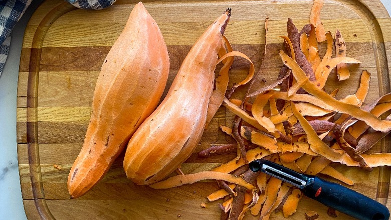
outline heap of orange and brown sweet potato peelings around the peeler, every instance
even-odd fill
[[[370,73],[365,70],[354,94],[335,99],[338,89],[329,93],[324,89],[334,68],[337,69],[338,79],[345,80],[350,76],[349,65],[360,62],[346,57],[343,33],[337,30],[334,39],[331,32],[323,29],[320,22],[322,6],[322,1],[314,3],[311,24],[305,25],[300,32],[288,19],[288,36],[282,37],[285,50],[279,52],[283,67],[276,82],[263,88],[252,88],[262,65],[255,74],[251,63],[247,78],[227,90],[227,66],[233,62],[229,58],[245,55],[233,51],[225,39],[227,50],[219,54],[219,61],[225,65],[222,68],[225,74],[221,74],[220,70],[214,92],[220,94],[215,96],[216,100],[220,99],[236,115],[232,128],[220,128],[232,136],[237,144],[212,146],[199,152],[199,157],[233,152],[237,152],[237,157],[212,171],[174,176],[152,184],[152,188],[217,179],[222,189],[209,195],[208,199],[222,199],[219,203],[221,219],[242,219],[248,211],[252,215],[259,215],[259,219],[269,219],[273,211],[282,211],[284,217],[295,213],[303,194],[274,177],[253,173],[248,169],[248,162],[269,159],[297,172],[328,175],[348,185],[353,185],[353,181],[330,166],[332,162],[362,167],[368,171],[372,167],[391,165],[390,154],[365,154],[391,131],[389,116],[384,117],[391,109],[391,94],[363,105],[370,81]],[[268,18],[265,29],[267,38]],[[318,43],[323,41],[327,42],[327,48],[325,55],[320,57]],[[231,98],[235,89],[243,84],[250,84],[243,99]],[[253,92],[250,93],[251,89]],[[216,103],[216,106],[220,106],[219,101]]]

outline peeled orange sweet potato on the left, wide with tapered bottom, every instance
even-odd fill
[[[84,144],[68,176],[71,197],[86,193],[109,170],[158,104],[168,71],[163,36],[139,3],[99,73]]]

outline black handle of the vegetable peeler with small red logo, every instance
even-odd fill
[[[389,210],[379,202],[345,186],[309,176],[303,193],[322,204],[360,220],[386,220]]]

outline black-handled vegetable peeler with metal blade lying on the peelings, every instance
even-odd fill
[[[304,195],[322,204],[364,220],[389,219],[389,210],[379,202],[337,183],[313,175],[305,175],[268,160],[255,160],[249,164],[253,172],[262,171],[299,188]]]

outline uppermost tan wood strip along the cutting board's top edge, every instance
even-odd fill
[[[235,21],[254,21],[261,20],[262,17],[259,12],[267,14],[269,18],[281,17],[281,12],[284,12],[284,16],[294,17],[300,20],[309,20],[309,14],[311,12],[312,2],[278,2],[270,4],[271,1],[247,1],[236,2],[227,1],[224,4],[221,2],[207,3],[144,3],[148,13],[153,19],[160,24],[162,22],[211,22],[225,12],[227,7],[232,8],[232,19]],[[293,3],[293,4],[292,4]],[[76,10],[70,12],[58,21],[58,24],[67,24],[68,19],[73,19],[75,25],[80,24],[101,24],[101,23],[125,23],[129,17],[133,4],[126,5],[114,5],[101,11],[83,11]],[[301,13],[296,13],[292,10],[286,10],[294,7]],[[202,13],[200,13],[202,11]],[[164,12],[164,13],[162,13]],[[88,14],[89,19],[85,19],[85,15]],[[115,14],[115,16],[113,16]],[[168,16],[167,16],[168,15]],[[360,19],[352,10],[345,6],[341,6],[333,3],[326,3],[322,9],[321,18],[333,18],[338,17],[340,19]],[[107,18],[102,20],[101,18]],[[32,24],[33,25],[33,24]],[[37,24],[38,25],[38,24]]]

